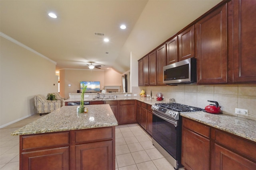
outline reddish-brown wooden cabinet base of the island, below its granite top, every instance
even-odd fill
[[[115,170],[115,127],[20,135],[20,170],[87,169]]]

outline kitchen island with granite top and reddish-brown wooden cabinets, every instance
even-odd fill
[[[116,118],[107,104],[64,106],[14,131],[20,135],[20,170],[115,169]]]

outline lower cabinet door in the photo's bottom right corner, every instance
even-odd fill
[[[214,170],[255,170],[256,163],[231,152],[219,145],[214,145]]]

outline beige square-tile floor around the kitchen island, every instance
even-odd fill
[[[0,129],[0,170],[19,169],[19,137],[10,134],[38,118],[39,115],[33,115]],[[116,170],[174,170],[151,140],[138,124],[118,125]]]

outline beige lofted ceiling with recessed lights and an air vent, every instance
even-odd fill
[[[101,65],[101,70],[112,68],[124,73],[130,70],[131,51],[138,59],[143,57],[218,2],[1,0],[0,31],[55,61],[56,70],[88,69],[92,62]],[[50,18],[49,12],[57,18]],[[170,22],[166,18],[162,21],[162,15]],[[159,26],[162,23],[166,25]],[[126,29],[120,29],[122,24]]]

